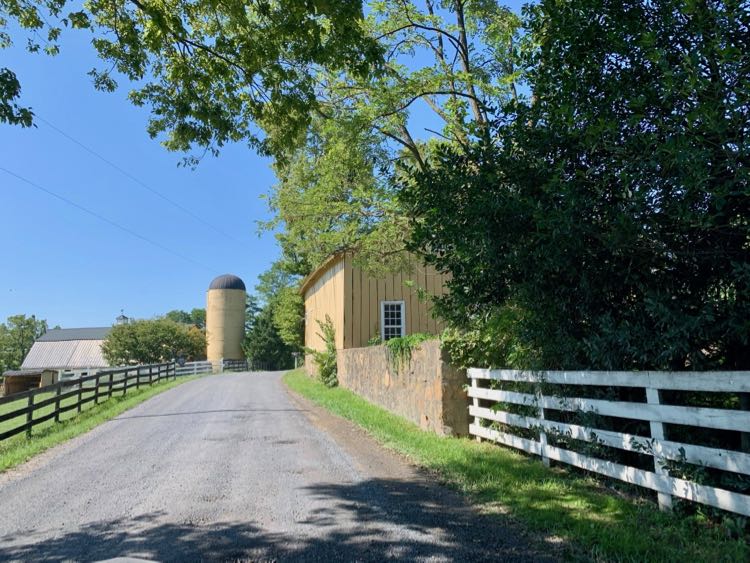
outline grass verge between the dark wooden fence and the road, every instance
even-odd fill
[[[31,438],[19,435],[3,440],[0,442],[0,472],[28,461],[52,446],[88,432],[95,426],[116,417],[154,395],[197,379],[197,377],[181,377],[176,381],[159,383],[153,387],[134,390],[132,393],[128,391],[128,394],[124,397],[112,397],[99,405],[89,403],[84,406],[84,411],[81,414],[75,414],[59,424],[51,421],[49,425],[45,425],[41,429],[35,427]]]

